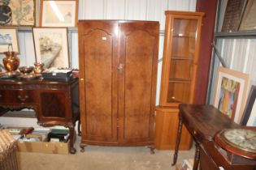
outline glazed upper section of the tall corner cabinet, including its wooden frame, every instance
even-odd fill
[[[202,15],[166,13],[160,105],[192,103]]]

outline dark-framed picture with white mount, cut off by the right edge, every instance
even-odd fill
[[[241,125],[256,126],[256,86],[252,86],[245,105],[245,112]]]

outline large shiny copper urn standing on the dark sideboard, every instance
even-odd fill
[[[7,72],[15,71],[20,66],[20,59],[16,52],[4,52],[6,57],[2,58],[2,63]]]

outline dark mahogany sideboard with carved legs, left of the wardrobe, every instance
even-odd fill
[[[0,107],[6,110],[32,108],[39,125],[67,127],[70,131],[69,151],[76,153],[73,145],[76,140],[75,123],[80,116],[78,79],[68,82],[1,79]]]

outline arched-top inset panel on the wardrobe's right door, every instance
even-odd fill
[[[153,49],[154,37],[147,32],[132,32],[126,37],[124,138],[150,137]]]

